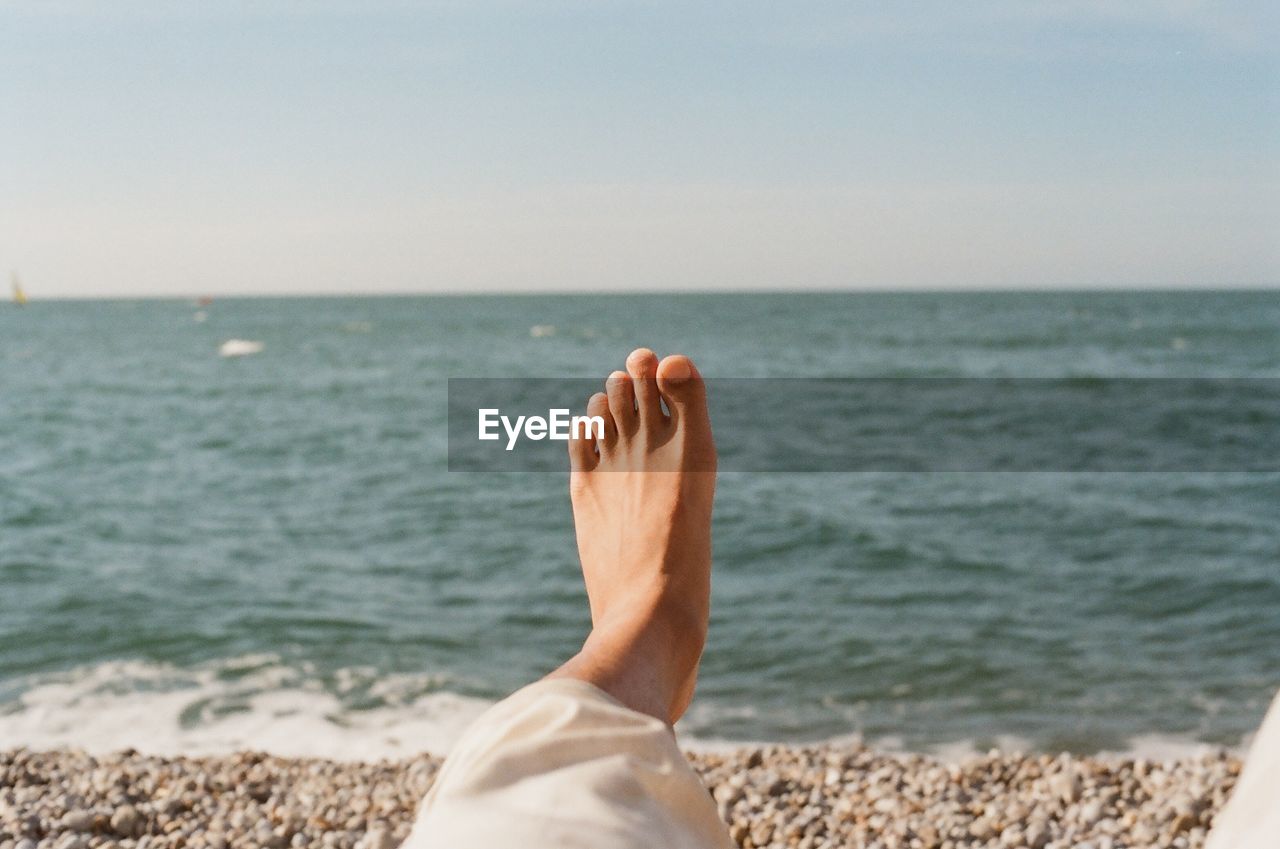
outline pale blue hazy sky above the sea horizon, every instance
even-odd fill
[[[32,297],[1280,286],[1271,3],[0,0]]]

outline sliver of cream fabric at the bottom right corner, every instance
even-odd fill
[[[1204,849],[1280,849],[1280,693],[1253,738],[1244,772],[1213,821]]]

